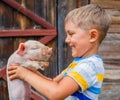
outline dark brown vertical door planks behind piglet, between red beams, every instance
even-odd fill
[[[28,16],[25,16],[24,14],[20,13],[19,9],[16,10],[15,8],[5,3],[5,1],[0,0],[0,32],[5,30],[35,30],[35,28],[47,30],[47,28],[43,27],[42,24],[38,24],[34,20],[30,19]],[[43,18],[43,20],[47,21],[56,28],[55,0],[15,1],[19,3],[23,8],[32,11],[34,14],[40,16],[41,18]],[[0,37],[0,70],[4,66],[6,66],[7,59],[18,48],[20,42],[24,42],[29,39],[39,40],[43,37],[44,36]],[[43,74],[49,77],[54,77],[58,74],[56,43],[56,39],[53,39],[48,44],[46,44],[52,47],[54,52],[51,58],[50,67],[46,69],[46,71],[42,72]],[[2,74],[0,73],[0,76],[1,75]],[[2,78],[0,78],[0,100],[8,100],[7,83]]]

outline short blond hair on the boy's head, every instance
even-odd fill
[[[65,23],[69,21],[85,31],[96,29],[101,43],[111,24],[111,17],[100,6],[89,4],[70,11],[65,18]]]

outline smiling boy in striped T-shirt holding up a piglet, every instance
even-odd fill
[[[109,25],[110,16],[98,5],[72,10],[65,18],[65,41],[72,49],[73,62],[54,79],[11,65],[10,79],[28,82],[50,100],[97,100],[104,78],[98,48]]]

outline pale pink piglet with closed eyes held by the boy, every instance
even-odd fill
[[[19,64],[23,67],[34,67],[36,70],[44,70],[48,66],[52,55],[52,48],[35,41],[28,40],[20,43],[19,48],[10,56],[7,63],[7,69],[10,64]],[[8,70],[7,70],[8,73]],[[34,81],[34,79],[33,79]],[[27,92],[29,85],[20,80],[10,81],[7,74],[9,100],[30,100],[30,93]]]

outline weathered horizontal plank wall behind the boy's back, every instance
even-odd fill
[[[112,17],[112,24],[103,41],[100,54],[105,63],[105,80],[101,100],[120,99],[120,0],[91,0],[106,9]]]

